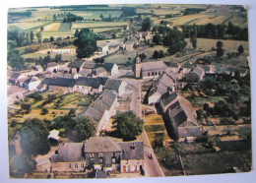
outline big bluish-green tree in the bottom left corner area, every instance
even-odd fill
[[[27,119],[19,130],[23,153],[37,155],[49,152],[48,135],[49,131],[41,120]]]

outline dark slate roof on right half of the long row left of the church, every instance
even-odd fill
[[[92,87],[94,89],[98,89],[100,85],[105,85],[107,78],[97,77],[97,78],[87,78],[87,77],[79,77],[76,80],[76,86],[86,86]]]

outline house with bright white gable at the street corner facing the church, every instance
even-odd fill
[[[116,93],[122,96],[126,92],[127,84],[122,80],[109,79],[105,83],[104,90]]]

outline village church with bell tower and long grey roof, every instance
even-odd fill
[[[134,67],[134,75],[137,79],[158,78],[160,75],[165,73],[167,68],[168,67],[166,64],[160,60],[144,59],[142,62],[141,59],[137,56]]]

